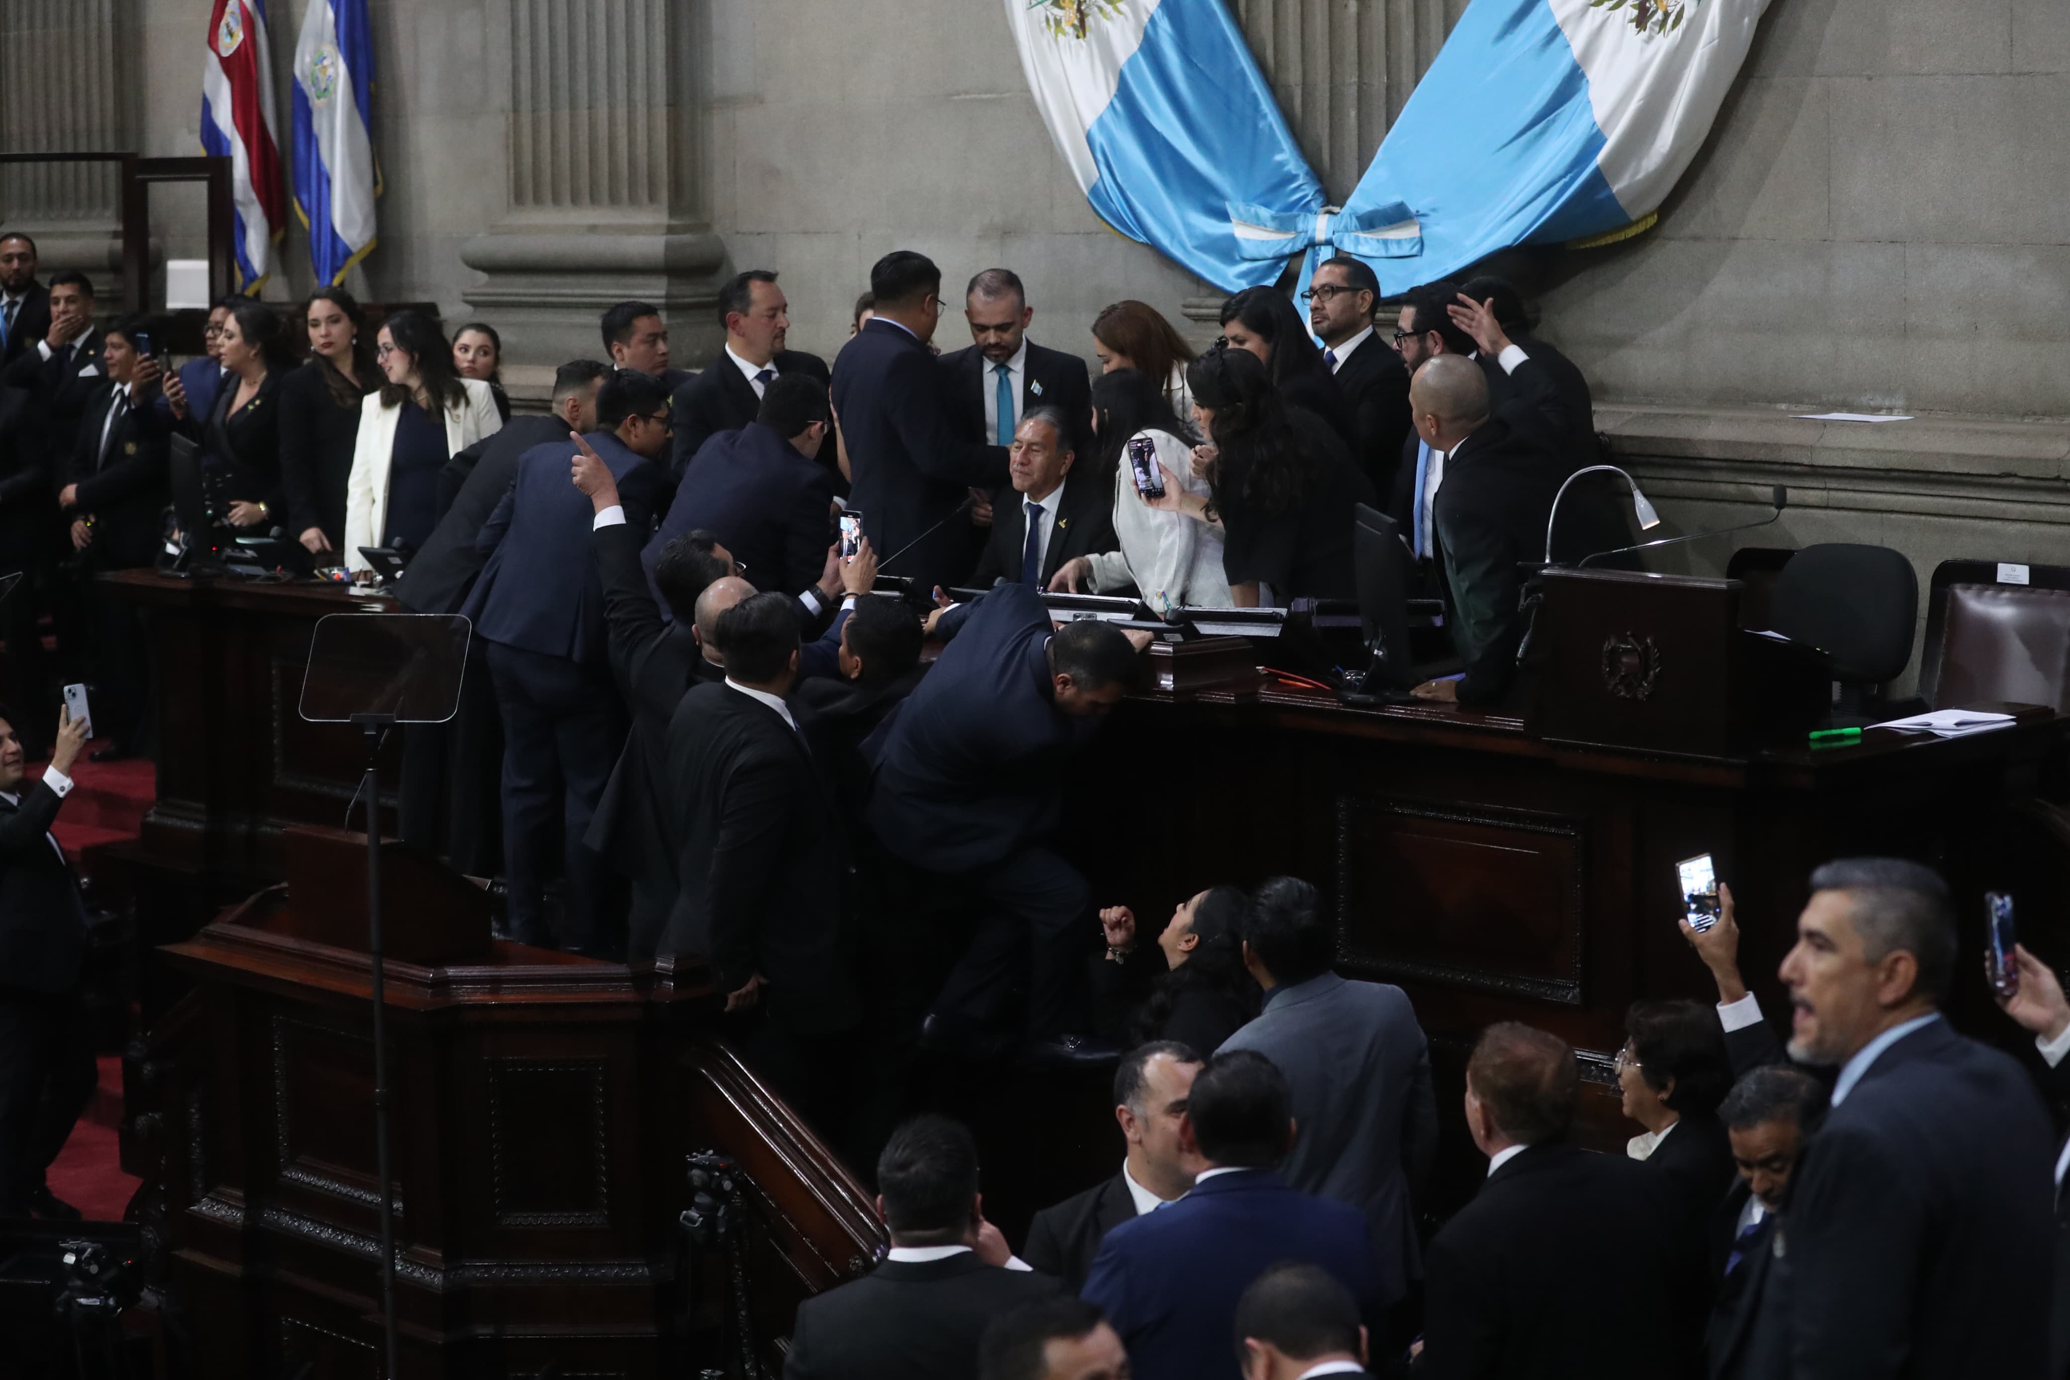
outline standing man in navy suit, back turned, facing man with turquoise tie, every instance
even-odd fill
[[[971,569],[971,490],[1006,482],[1006,447],[989,443],[996,434],[969,434],[927,350],[942,321],[942,271],[925,254],[894,250],[869,269],[869,290],[876,314],[840,348],[834,370],[849,497],[886,575],[948,588]]]

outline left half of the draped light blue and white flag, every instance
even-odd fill
[[[1314,217],[1323,186],[1223,0],[1004,0],[1021,68],[1099,219],[1223,288],[1279,277],[1232,205]]]

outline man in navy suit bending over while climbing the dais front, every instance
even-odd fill
[[[1021,583],[950,608],[936,629],[952,641],[863,743],[878,842],[983,908],[921,1039],[969,1049],[1025,974],[1029,1057],[1103,1063],[1114,1051],[1076,1034],[1072,1010],[1087,881],[1045,836],[1076,751],[1136,672],[1136,646],[1107,623],[1052,629],[1041,594]]]

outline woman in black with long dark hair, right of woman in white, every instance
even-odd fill
[[[1223,530],[1221,571],[1238,608],[1356,598],[1352,507],[1372,503],[1372,484],[1350,449],[1323,418],[1288,410],[1246,350],[1209,350],[1186,383],[1207,437],[1194,474],[1207,478],[1209,494],[1167,472],[1165,497],[1151,507]]]

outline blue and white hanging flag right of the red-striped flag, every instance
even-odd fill
[[[294,209],[319,283],[342,283],[375,246],[373,79],[366,0],[308,0],[294,48]]]

